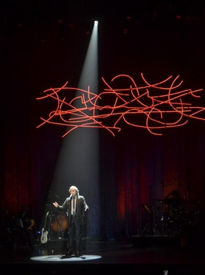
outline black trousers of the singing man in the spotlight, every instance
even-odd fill
[[[68,250],[80,250],[82,240],[82,225],[75,217],[71,217],[71,223],[68,228]]]

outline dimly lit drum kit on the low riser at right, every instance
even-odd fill
[[[153,210],[147,210],[147,224],[142,233],[156,235],[179,235],[200,222],[198,201],[184,201],[175,198],[153,199]]]

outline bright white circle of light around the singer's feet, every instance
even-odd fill
[[[36,256],[30,258],[33,261],[44,261],[44,262],[73,262],[73,261],[88,261],[96,260],[102,258],[98,255],[83,255],[81,257],[72,256],[71,258],[62,259],[60,255],[46,255],[46,256]]]

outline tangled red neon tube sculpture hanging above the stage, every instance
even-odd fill
[[[205,116],[202,117],[204,107],[194,107],[192,103],[182,101],[189,96],[200,97],[196,93],[203,89],[180,90],[183,81],[179,81],[179,75],[174,79],[171,75],[156,84],[148,83],[142,73],[141,77],[145,84],[138,87],[131,76],[116,75],[111,80],[113,84],[120,78],[128,82],[128,86],[121,89],[111,87],[102,77],[106,88],[98,95],[91,92],[90,87],[88,90],[67,87],[68,82],[63,87],[45,90],[46,95],[37,100],[52,99],[56,109],[49,113],[48,119],[40,117],[43,123],[37,128],[46,123],[67,126],[68,131],[63,137],[78,127],[104,128],[114,136],[124,122],[161,135],[161,129],[185,125],[189,118],[205,120]],[[60,97],[64,91],[78,92],[79,95],[67,100],[66,96]]]

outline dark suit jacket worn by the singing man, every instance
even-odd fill
[[[61,206],[58,206],[59,210],[65,210],[67,209],[68,214],[68,224],[70,224],[71,221],[71,199],[72,197],[69,197],[65,200],[64,204]],[[87,206],[86,200],[83,196],[78,195],[76,200],[76,208],[75,208],[75,222],[77,222],[79,225],[85,224],[85,214],[84,210]]]

